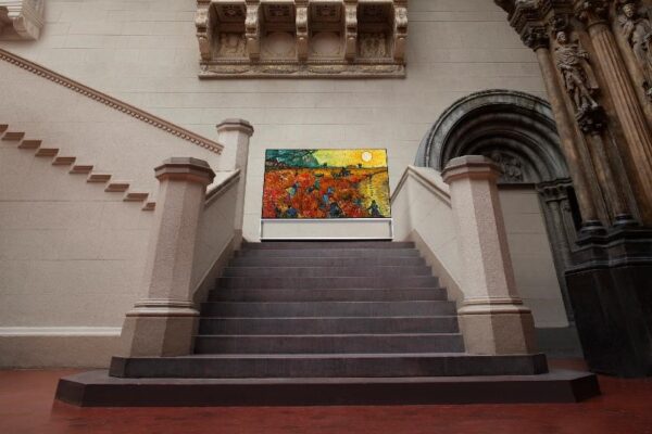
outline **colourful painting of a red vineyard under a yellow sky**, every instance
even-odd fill
[[[390,216],[386,150],[266,151],[264,219]]]

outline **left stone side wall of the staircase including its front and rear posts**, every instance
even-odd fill
[[[225,146],[217,174],[191,157],[168,158],[155,168],[159,193],[143,294],[126,314],[121,356],[190,354],[199,318],[196,302],[241,242],[253,128],[246,120],[227,119],[217,132]]]

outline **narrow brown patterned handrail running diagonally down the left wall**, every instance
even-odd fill
[[[113,110],[122,112],[128,116],[131,116],[138,120],[151,125],[152,127],[159,128],[167,133],[178,137],[179,139],[189,141],[192,144],[197,144],[216,154],[221,154],[224,145],[206,139],[203,136],[199,136],[186,128],[179,127],[168,120],[165,120],[159,116],[140,110],[131,104],[121,101],[116,98],[110,97],[106,93],[100,92],[99,90],[89,88],[88,86],[82,85],[72,78],[65,77],[59,73],[53,72],[38,63],[28,61],[17,54],[9,52],[0,48],[0,60],[11,63],[12,65],[18,66],[32,74],[43,77],[57,85],[61,85],[68,88],[84,97],[90,98],[101,104],[104,104]]]

